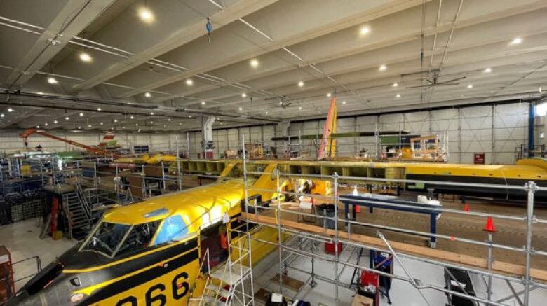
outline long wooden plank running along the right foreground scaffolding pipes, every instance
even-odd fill
[[[274,217],[269,216],[257,216],[255,218],[254,214],[245,214],[244,212],[241,214],[242,218],[249,218],[249,220],[252,222],[253,220],[261,223],[266,223],[270,225],[276,225],[277,220]],[[281,220],[281,225],[293,228],[296,230],[305,230],[306,232],[313,232],[318,234],[324,234],[325,229],[316,226],[316,225],[310,225],[306,223],[299,223],[295,221],[288,221],[288,220]],[[335,230],[327,230],[326,235],[334,236]],[[348,240],[348,233],[343,231],[338,231],[338,237],[342,239]],[[384,242],[376,237],[370,237],[366,235],[358,235],[358,234],[351,234],[351,239],[349,239],[351,242],[358,242],[360,244],[364,244],[364,246],[377,246],[381,247],[383,249],[386,248]],[[460,253],[454,253],[450,251],[443,251],[443,250],[437,250],[437,249],[431,249],[426,246],[417,246],[414,244],[407,244],[403,242],[396,242],[396,241],[389,241],[389,244],[391,244],[391,247],[395,251],[400,251],[402,253],[407,253],[410,255],[415,256],[421,256],[426,258],[432,258],[436,260],[445,261],[447,263],[456,263],[459,265],[469,265],[472,267],[479,267],[481,269],[487,268],[487,260],[486,258],[479,258],[475,256],[468,256],[465,254]],[[492,263],[492,270],[494,272],[499,272],[503,274],[511,274],[518,277],[522,277],[525,274],[525,266],[523,265],[515,265],[513,263],[505,263],[503,261],[494,260]],[[530,270],[530,274],[532,278],[540,281],[547,281],[547,271],[546,270],[539,270],[532,268]]]

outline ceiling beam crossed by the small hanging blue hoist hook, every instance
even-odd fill
[[[230,22],[238,20],[238,18],[242,18],[245,15],[258,11],[265,6],[275,3],[276,1],[278,0],[239,0],[231,6],[227,6],[221,11],[217,11],[217,13],[212,14],[210,18],[215,22],[215,30],[217,30]],[[168,36],[166,39],[156,43],[154,46],[145,48],[140,53],[129,56],[126,60],[116,62],[116,64],[113,64],[104,71],[100,72],[100,74],[88,78],[88,80],[82,83],[74,85],[73,89],[86,90],[93,88],[104,81],[114,78],[115,76],[119,76],[120,74],[123,74],[124,72],[129,71],[140,64],[144,64],[154,57],[158,57],[163,53],[182,46],[185,43],[193,41],[194,39],[197,39],[205,34],[207,34],[207,31],[204,27],[203,20],[200,20],[189,27],[180,29],[175,32],[175,34]]]

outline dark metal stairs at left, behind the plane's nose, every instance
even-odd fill
[[[81,195],[79,186],[74,191],[62,193],[62,207],[68,221],[70,239],[81,240],[88,235],[93,222],[85,197]]]

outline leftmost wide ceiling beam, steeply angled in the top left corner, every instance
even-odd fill
[[[48,64],[74,36],[83,31],[114,1],[67,1],[67,4],[15,66],[6,83],[10,84],[11,88],[21,88],[25,85],[36,71]]]

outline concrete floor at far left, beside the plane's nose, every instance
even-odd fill
[[[75,244],[74,241],[65,238],[53,240],[50,236],[46,236],[40,239],[39,235],[40,228],[37,218],[2,225],[0,226],[0,245],[5,245],[8,248],[13,263],[32,256],[39,256],[42,267],[46,267],[55,257],[60,256]],[[36,261],[28,260],[16,264],[13,270],[16,280],[34,274],[36,273]],[[28,279],[16,282],[15,289],[23,286],[26,281]]]

